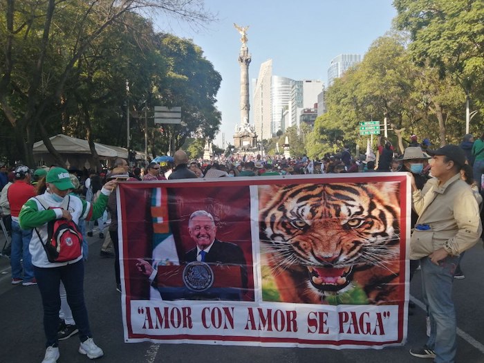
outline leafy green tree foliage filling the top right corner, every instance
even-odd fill
[[[418,66],[459,85],[484,107],[484,3],[482,0],[395,0],[396,24],[409,32]],[[440,136],[441,143],[445,142]]]

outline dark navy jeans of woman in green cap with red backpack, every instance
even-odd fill
[[[67,302],[71,307],[75,324],[79,328],[81,342],[84,342],[88,337],[92,337],[87,309],[84,304],[84,262],[80,260],[76,263],[55,268],[34,266],[34,272],[42,297],[42,305],[44,306],[46,347],[57,344],[59,309],[61,307],[60,281],[64,283],[66,288]]]

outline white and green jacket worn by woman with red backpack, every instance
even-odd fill
[[[43,243],[47,241],[47,223],[55,219],[62,218],[62,210],[46,210],[46,207],[60,207],[62,209],[68,209],[71,212],[73,221],[77,224],[81,219],[86,219],[90,221],[91,219],[97,219],[102,216],[104,210],[106,209],[106,204],[108,201],[108,196],[111,191],[105,189],[101,190],[100,197],[97,198],[96,203],[86,202],[77,196],[66,196],[64,201],[61,203],[54,201],[52,194],[45,192],[34,198],[30,198],[24,206],[22,207],[19,214],[19,224],[24,230],[35,228],[39,232]],[[75,263],[82,259],[82,254],[78,259],[68,262],[56,262],[51,263],[47,259],[47,254],[44,247],[39,241],[39,236],[35,230],[32,232],[32,239],[29,244],[29,251],[32,255],[32,265],[40,268],[51,268],[66,266],[68,263]]]

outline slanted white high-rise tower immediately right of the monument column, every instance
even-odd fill
[[[259,77],[255,81],[252,109],[257,138],[272,138],[272,59],[261,64]]]

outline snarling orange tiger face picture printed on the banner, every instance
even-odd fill
[[[263,252],[281,301],[322,304],[360,286],[371,304],[398,299],[398,183],[259,189]]]

